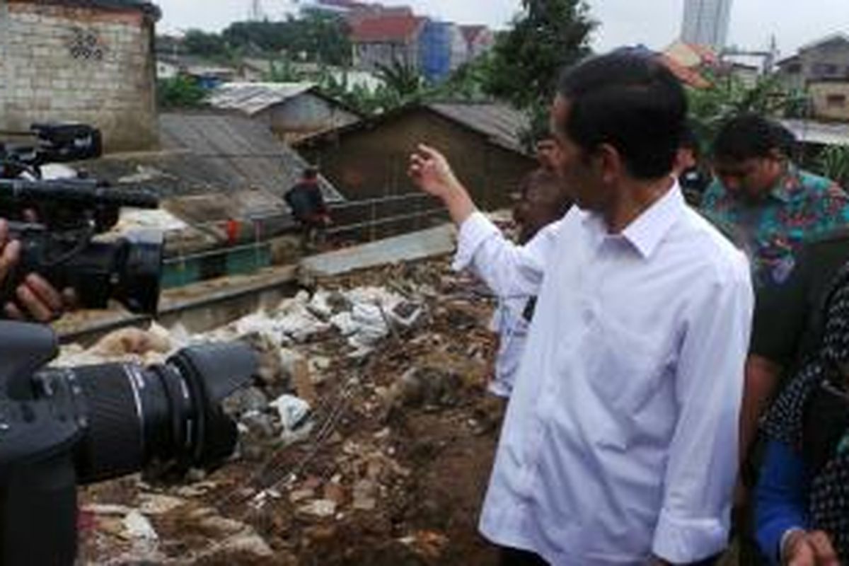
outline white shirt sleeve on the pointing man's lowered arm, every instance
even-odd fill
[[[753,296],[742,255],[712,277],[687,314],[675,375],[678,423],[669,448],[653,552],[692,563],[728,544],[738,472],[739,410]]]

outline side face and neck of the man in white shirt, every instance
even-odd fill
[[[604,210],[612,189],[603,182],[602,165],[578,146],[566,133],[571,104],[558,96],[551,109],[551,131],[557,143],[554,172],[569,188],[569,196],[582,210]]]

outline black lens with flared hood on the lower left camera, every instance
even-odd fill
[[[115,363],[48,370],[37,378],[82,404],[75,467],[81,484],[138,472],[151,462],[214,468],[233,452],[236,425],[221,403],[256,373],[244,344],[201,345],[150,367]]]

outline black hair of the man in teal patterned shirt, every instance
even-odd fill
[[[796,136],[776,121],[762,115],[742,114],[722,125],[713,143],[717,160],[743,161],[769,157],[778,150],[790,157],[796,148]]]

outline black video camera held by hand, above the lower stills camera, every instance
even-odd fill
[[[121,207],[153,209],[159,202],[144,189],[110,188],[87,178],[43,180],[42,165],[86,160],[101,152],[100,133],[78,124],[36,124],[35,146],[0,143],[0,218],[22,244],[21,260],[0,288],[0,300],[28,273],[57,289],[76,292],[84,308],[110,299],[130,311],[154,314],[160,294],[161,235],[95,239],[115,226]]]

